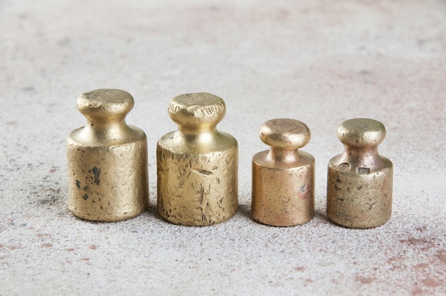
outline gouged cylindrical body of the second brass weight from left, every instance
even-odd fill
[[[224,134],[225,137],[231,137]],[[186,226],[208,226],[234,216],[238,207],[235,139],[207,153],[184,153],[157,145],[157,207],[162,218]],[[227,142],[227,141],[226,141]]]

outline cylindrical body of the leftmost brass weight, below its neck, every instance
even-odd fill
[[[138,216],[148,201],[146,139],[85,147],[68,138],[68,175],[68,208],[75,216],[93,221]]]

